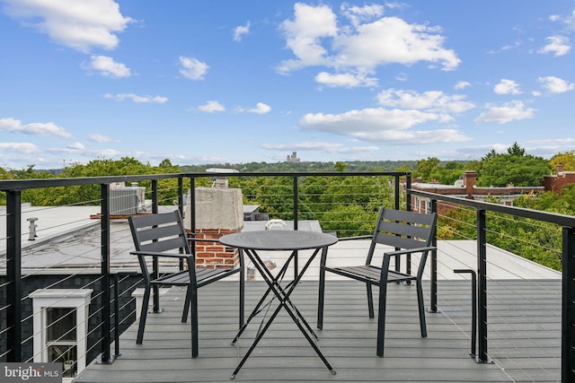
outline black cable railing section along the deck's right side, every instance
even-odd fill
[[[438,266],[429,273],[436,273],[440,280],[444,275],[437,270],[447,274],[445,265],[457,259],[468,256],[477,262],[473,267],[477,281],[472,286],[478,297],[475,359],[498,364],[512,381],[572,381],[575,217],[411,192],[417,201],[414,205],[427,201],[431,210],[441,212]],[[470,243],[471,248],[464,246]],[[534,276],[529,270],[530,276],[526,276],[526,270],[514,263],[519,256],[521,265],[544,264],[549,273]],[[460,277],[470,279],[467,274]],[[442,298],[438,285],[440,282],[432,279],[430,298],[449,316],[454,302]],[[459,313],[453,314],[456,323]],[[461,328],[471,336],[467,326]]]

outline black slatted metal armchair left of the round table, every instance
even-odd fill
[[[184,230],[180,211],[171,213],[155,213],[128,217],[134,246],[136,251],[131,252],[137,256],[142,275],[144,277],[145,292],[142,301],[139,326],[137,328],[137,344],[142,344],[144,327],[146,326],[147,309],[150,292],[153,286],[186,286],[186,300],[184,302],[181,322],[185,323],[191,306],[191,357],[198,356],[198,289],[209,283],[219,281],[232,274],[240,274],[240,327],[243,325],[243,297],[244,274],[243,257],[240,257],[239,267],[230,268],[196,268],[195,256],[192,254],[190,239]],[[199,239],[209,241],[209,239]],[[217,242],[217,239],[213,241]],[[146,264],[146,257],[172,257],[183,259],[186,263],[184,270],[168,274],[150,274]],[[158,276],[159,275],[159,276]]]

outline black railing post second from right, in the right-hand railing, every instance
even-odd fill
[[[485,210],[477,210],[477,313],[479,351],[475,361],[489,362],[487,354],[487,237]]]

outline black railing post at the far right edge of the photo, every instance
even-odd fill
[[[562,248],[562,382],[575,381],[575,229],[563,227]]]

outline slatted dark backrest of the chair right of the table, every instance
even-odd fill
[[[381,208],[367,254],[371,263],[377,244],[394,248],[423,248],[432,245],[437,222],[436,213],[416,213]]]

